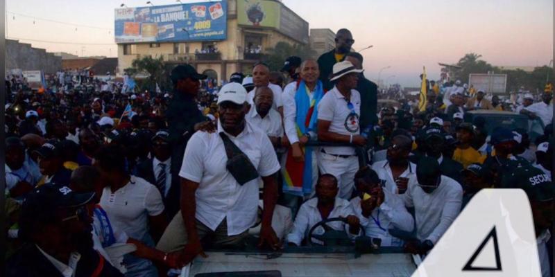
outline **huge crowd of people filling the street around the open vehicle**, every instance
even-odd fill
[[[171,93],[15,90],[6,276],[164,276],[204,249],[243,249],[257,224],[261,248],[325,244],[322,226],[309,231],[336,217],[347,242],[425,255],[484,188],[527,193],[550,276],[552,93],[523,96],[519,113],[545,125],[534,141],[465,122],[495,105],[457,82],[430,83],[422,109],[378,110],[352,34],[335,42],[318,60],[289,57],[282,80],[261,62],[217,94],[199,93],[207,76],[188,64]]]

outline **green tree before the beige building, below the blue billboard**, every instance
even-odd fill
[[[137,78],[137,87],[140,91],[155,91],[156,84],[167,87],[167,74],[164,66],[164,57],[152,57],[150,55],[133,60],[130,68],[124,72],[133,78]]]

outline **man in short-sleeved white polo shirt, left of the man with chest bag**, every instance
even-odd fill
[[[160,191],[126,172],[126,158],[118,146],[101,148],[95,155],[94,166],[105,184],[100,205],[110,222],[125,231],[129,238],[153,247],[167,226]],[[127,255],[123,262],[128,276],[157,276],[151,260]]]

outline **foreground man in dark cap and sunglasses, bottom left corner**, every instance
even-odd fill
[[[123,276],[93,249],[85,208],[93,199],[54,184],[29,193],[19,221],[24,246],[8,260],[6,276]]]

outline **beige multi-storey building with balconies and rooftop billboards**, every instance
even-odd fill
[[[225,2],[225,3],[224,3]],[[215,3],[215,4],[214,4]],[[228,80],[229,76],[237,71],[250,73],[253,64],[264,60],[264,56],[268,53],[268,48],[273,48],[278,42],[287,42],[293,44],[308,44],[308,23],[296,15],[294,12],[284,6],[281,1],[275,0],[257,0],[257,1],[237,1],[224,0],[220,2],[205,2],[184,5],[162,6],[161,8],[151,7],[151,17],[153,21],[164,21],[169,18],[188,17],[189,11],[194,11],[195,16],[205,16],[203,14],[203,5],[205,10],[213,10],[214,6],[220,3],[226,7],[225,16],[225,39],[154,39],[151,42],[118,42],[119,32],[122,33],[122,39],[128,39],[125,32],[132,33],[133,24],[127,24],[118,30],[118,21],[116,21],[116,41],[118,44],[118,70],[117,75],[123,75],[125,69],[129,68],[133,60],[151,55],[152,57],[162,57],[168,67],[173,68],[177,64],[191,64],[199,73],[204,73],[214,80],[221,83],[222,80]],[[191,6],[194,5],[194,6]],[[180,7],[181,6],[181,7]],[[217,8],[217,7],[216,7]],[[147,8],[128,8],[135,9],[135,18],[137,12],[146,10]],[[139,10],[139,11],[137,11]],[[176,12],[171,12],[179,10]],[[200,11],[199,11],[200,10]],[[121,9],[117,9],[121,14]],[[124,11],[125,12],[125,11]],[[168,12],[167,15],[160,15],[160,12]],[[215,13],[212,16],[212,27],[216,26],[214,17],[218,18],[221,14]],[[121,17],[126,17],[125,15]],[[221,18],[221,17],[220,17]],[[207,20],[210,21],[210,20]],[[210,26],[200,21],[194,22],[191,19],[186,22],[185,28],[180,28],[180,22],[176,21],[172,24],[165,24],[164,28],[178,28],[187,33],[186,37],[198,36],[197,26]],[[164,32],[158,23],[158,34]],[[143,25],[145,25],[143,23]],[[171,25],[171,26],[170,26]],[[194,25],[194,28],[187,26]],[[142,27],[142,32],[145,28]],[[139,27],[137,27],[139,28]],[[217,32],[217,30],[214,30]],[[212,34],[212,33],[210,33]],[[173,33],[170,36],[180,37],[182,33]],[[129,39],[128,39],[129,40]],[[168,41],[170,40],[170,41]]]

